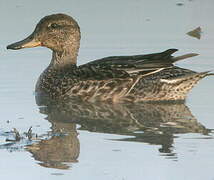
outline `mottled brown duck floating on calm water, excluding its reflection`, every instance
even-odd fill
[[[38,78],[37,96],[51,100],[79,98],[95,102],[184,101],[188,92],[210,71],[195,72],[174,63],[198,54],[174,57],[177,49],[160,53],[109,56],[77,66],[80,27],[66,14],[43,17],[32,34],[7,49],[37,46],[52,50],[48,67]]]

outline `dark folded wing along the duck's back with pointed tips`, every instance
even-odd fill
[[[111,56],[89,62],[82,67],[92,67],[99,70],[109,70],[117,75],[135,75],[135,74],[151,74],[161,69],[173,66],[173,63],[196,56],[197,54],[186,54],[179,57],[173,57],[172,54],[177,49],[168,49],[161,53],[135,55],[135,56]]]

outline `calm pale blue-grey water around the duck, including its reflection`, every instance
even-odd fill
[[[180,67],[214,70],[212,0],[0,2],[0,179],[214,179],[213,77],[185,105],[36,105],[34,86],[50,51],[5,47],[56,12],[81,26],[79,64],[178,48],[176,55],[200,54]],[[200,40],[186,34],[199,26]]]

